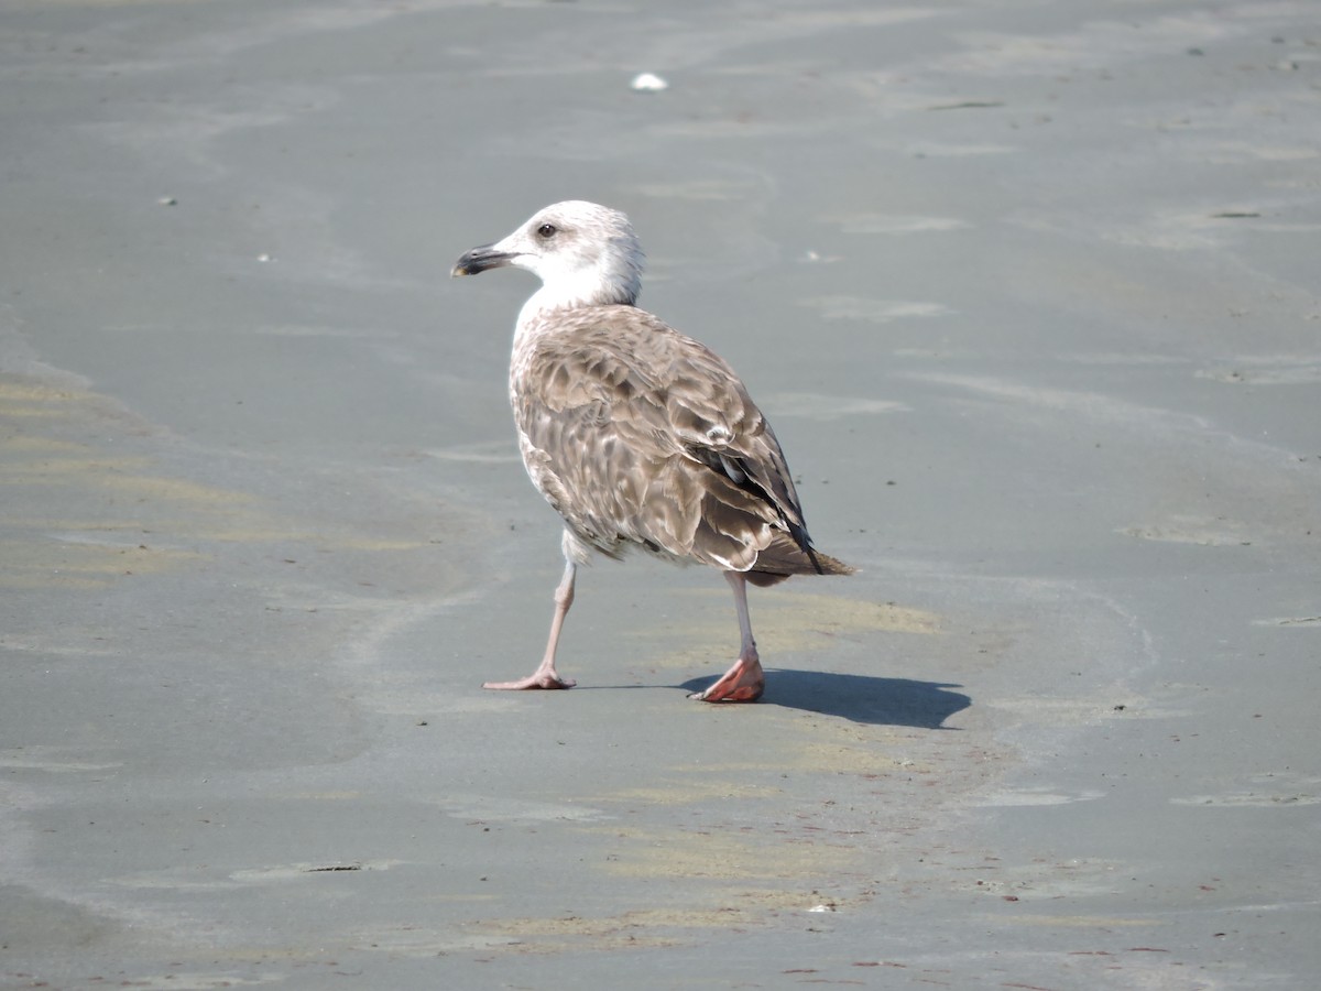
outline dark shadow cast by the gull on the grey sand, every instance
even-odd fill
[[[713,680],[694,678],[679,687],[695,692]],[[967,695],[950,691],[959,687],[962,686],[911,678],[872,678],[777,667],[766,669],[766,692],[760,704],[843,716],[869,725],[952,729],[955,727],[945,725],[945,720],[972,704]]]

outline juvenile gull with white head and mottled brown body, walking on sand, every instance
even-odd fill
[[[596,203],[547,206],[452,275],[514,266],[542,280],[518,314],[509,396],[523,464],[564,517],[564,577],[540,666],[486,688],[571,688],[555,647],[577,566],[641,547],[712,564],[734,592],[742,643],[719,680],[691,698],[753,702],[765,675],[748,583],[853,569],[812,550],[779,443],[733,369],[638,309],[642,248],[629,218]]]

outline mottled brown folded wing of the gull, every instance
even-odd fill
[[[528,473],[579,536],[820,569],[775,435],[720,357],[633,307],[555,316],[515,358],[513,398]]]

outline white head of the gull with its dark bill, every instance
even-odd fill
[[[524,312],[631,305],[642,289],[642,247],[629,218],[608,206],[568,200],[538,210],[503,240],[473,248],[452,275],[514,266],[542,280]]]

